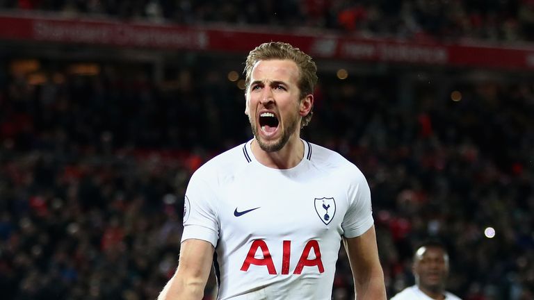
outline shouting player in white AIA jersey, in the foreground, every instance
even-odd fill
[[[357,299],[386,299],[364,175],[300,138],[316,70],[290,44],[250,51],[245,114],[254,138],[191,177],[179,265],[159,300],[202,299],[212,263],[220,300],[330,300],[341,240]]]

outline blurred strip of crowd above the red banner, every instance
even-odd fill
[[[532,0],[1,0],[0,8],[177,24],[326,28],[410,40],[534,40]]]

